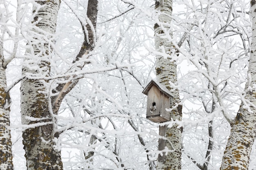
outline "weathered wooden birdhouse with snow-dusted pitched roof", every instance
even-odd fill
[[[173,96],[168,89],[151,80],[142,93],[148,96],[146,118],[156,123],[169,121],[170,113],[166,111],[166,108],[170,108],[170,98]]]

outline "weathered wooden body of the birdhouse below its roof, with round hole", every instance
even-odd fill
[[[148,91],[147,119],[157,123],[169,121],[170,116],[166,108],[170,108],[169,97],[153,85]]]

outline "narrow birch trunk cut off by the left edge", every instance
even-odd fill
[[[11,152],[10,97],[5,92],[7,87],[3,65],[2,44],[0,43],[0,169],[13,170]]]

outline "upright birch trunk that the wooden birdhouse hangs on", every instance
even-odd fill
[[[155,48],[159,52],[165,50],[166,54],[171,55],[173,50],[173,44],[168,40],[166,33],[171,35],[170,24],[171,24],[171,15],[172,15],[172,0],[160,0],[156,1],[155,9],[160,11],[158,17],[159,23],[155,24]],[[160,24],[160,26],[159,26]],[[163,28],[165,31],[163,31]],[[166,32],[167,31],[167,32]],[[168,90],[171,90],[169,82],[176,83],[176,64],[175,61],[171,61],[168,58],[164,58],[161,55],[157,56],[156,60],[156,75],[157,82],[160,82]],[[173,98],[170,101],[170,106],[172,111],[170,112],[170,119],[173,120],[182,120],[182,106],[178,105],[180,103],[179,91],[177,89],[172,89],[171,91]],[[180,170],[181,169],[181,148],[182,148],[182,128],[177,128],[177,125],[174,125],[172,128],[167,128],[166,138],[171,141],[171,144],[174,147],[174,152],[168,152],[168,155],[165,156],[165,160],[157,162],[157,170]],[[172,150],[171,144],[166,141],[166,146],[169,150]]]

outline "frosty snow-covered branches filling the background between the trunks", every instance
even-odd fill
[[[15,169],[26,169],[22,130],[47,124],[54,124],[55,132],[60,132],[53,140],[54,147],[62,152],[64,169],[148,170],[154,166],[155,170],[157,155],[162,153],[157,150],[161,138],[158,128],[164,125],[183,128],[182,170],[197,170],[194,162],[205,163],[209,139],[214,147],[207,168],[220,168],[230,123],[241,101],[249,112],[254,112],[252,106],[256,105],[245,97],[246,92],[254,95],[256,88],[255,75],[249,73],[247,77],[248,51],[252,50],[249,1],[173,1],[173,13],[168,16],[172,23],[162,28],[172,31],[173,36],[161,35],[173,48],[160,46],[159,51],[154,47],[153,27],[156,22],[161,25],[160,13],[153,9],[154,1],[99,1],[97,28],[93,31],[95,46],[79,62],[74,59],[84,40],[81,25],[92,26],[86,15],[88,1],[63,0],[55,33],[38,30],[36,22],[32,23],[33,1],[18,2],[19,6],[11,0],[0,3],[0,44],[7,66],[5,91],[11,93],[8,128]],[[88,35],[88,30],[84,31]],[[89,42],[88,37],[86,40]],[[38,54],[34,53],[36,46],[41,49]],[[52,53],[46,55],[46,49]],[[156,56],[177,64],[177,82],[167,82],[171,91],[151,80]],[[49,62],[51,69],[40,67],[42,62]],[[33,72],[22,75],[22,66]],[[43,82],[46,88],[40,92],[46,94],[49,104],[51,97],[59,94],[59,84],[77,84],[62,100],[58,114],[54,114],[52,105],[47,106],[52,117],[29,115],[25,119],[36,123],[25,125],[20,120],[20,82],[25,79]],[[251,85],[244,89],[246,82]],[[173,91],[179,91],[182,121],[154,124],[146,119],[144,94],[152,84],[170,97]],[[176,106],[168,109],[170,114]],[[209,135],[209,126],[213,136]],[[173,150],[166,147],[164,151]],[[93,163],[91,158],[85,159],[89,152],[94,152]],[[255,159],[254,147],[249,170],[256,168]]]

